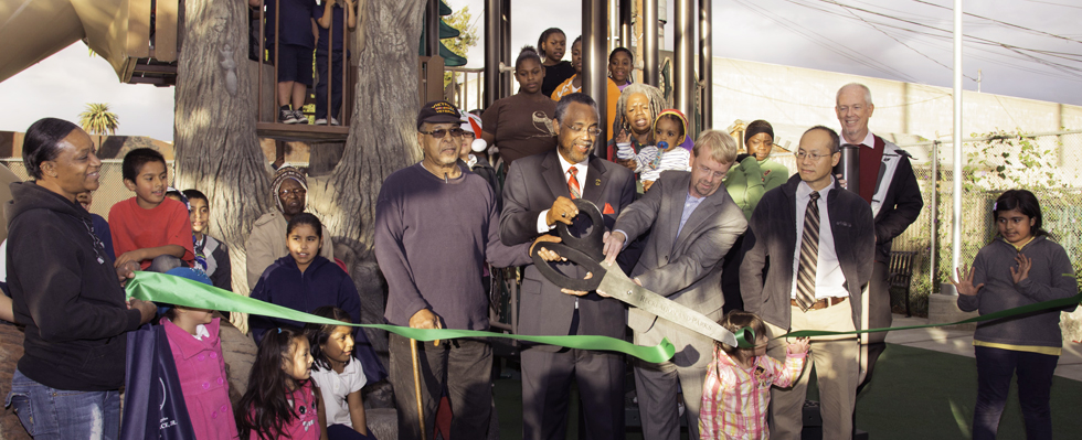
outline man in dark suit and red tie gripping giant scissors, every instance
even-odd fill
[[[572,197],[597,205],[607,229],[635,196],[635,178],[629,170],[590,154],[601,131],[593,98],[564,96],[556,105],[554,124],[559,127],[558,150],[516,160],[510,168],[500,216],[505,245],[548,234],[556,222],[572,224],[579,214]],[[571,264],[554,267],[571,277],[586,276],[584,269]],[[561,289],[532,265],[526,267],[520,298],[522,334],[623,339],[627,326],[624,303],[596,292]],[[522,351],[522,437],[564,438],[572,379],[579,385],[586,438],[623,439],[624,358],[614,353],[550,346]]]

